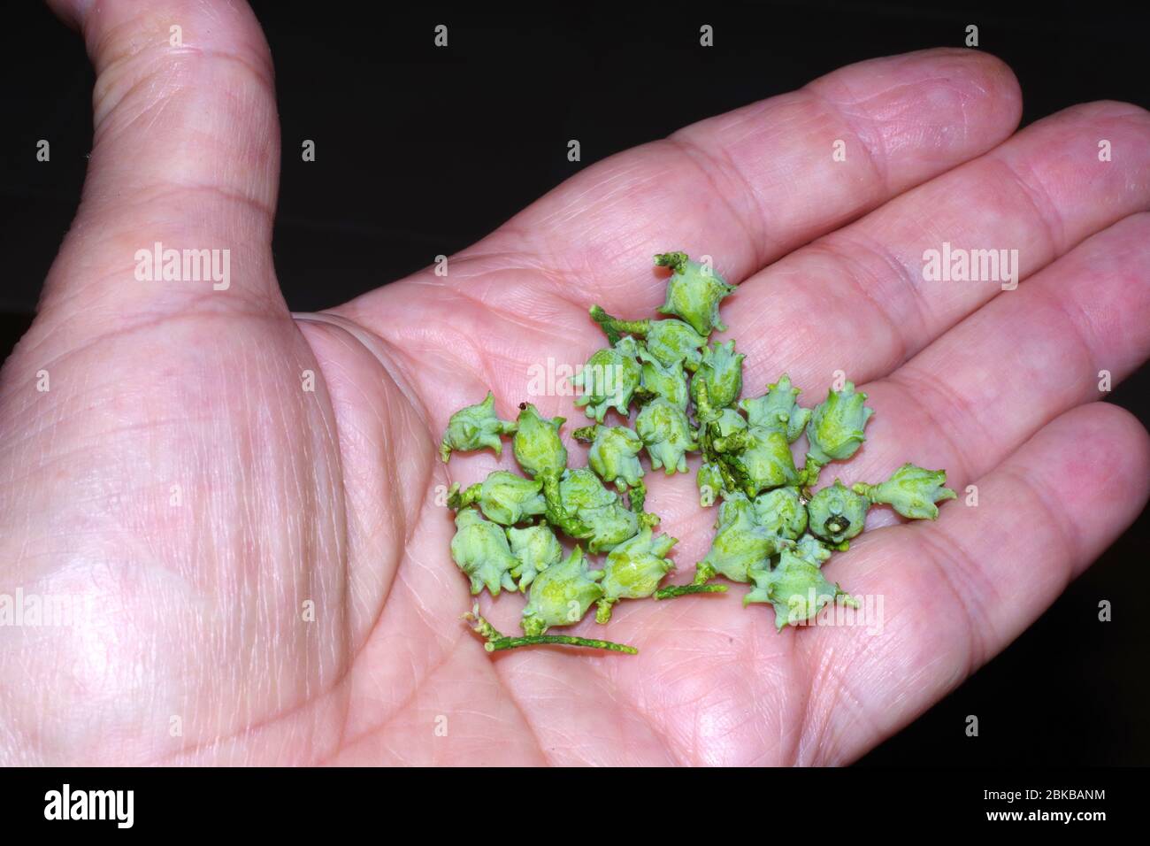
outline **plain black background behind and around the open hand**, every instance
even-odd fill
[[[26,328],[76,208],[92,71],[78,36],[8,3],[0,53],[0,351]],[[500,12],[255,2],[276,63],[284,163],[275,235],[289,305],[317,310],[489,233],[595,161],[842,64],[930,46],[1012,66],[1022,123],[1076,102],[1150,106],[1147,13],[1111,3],[585,3]],[[1138,3],[1145,7],[1145,3]],[[448,49],[432,28],[450,26]],[[698,46],[710,23],[715,46]],[[578,138],[582,162],[566,143]],[[34,160],[52,143],[51,163]],[[300,161],[305,138],[316,161]],[[1143,367],[1111,402],[1150,420]],[[1089,444],[1083,444],[1084,449]],[[864,764],[1150,763],[1150,516],[1005,653]],[[1099,600],[1114,619],[1097,622]],[[2,684],[2,680],[0,680]],[[981,737],[964,733],[976,715]]]

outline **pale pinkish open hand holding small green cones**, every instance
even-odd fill
[[[0,762],[846,763],[1009,645],[1145,503],[1147,433],[1097,402],[1099,371],[1117,383],[1150,351],[1150,116],[1134,106],[1015,134],[1018,84],[987,54],[856,64],[588,167],[446,276],[293,318],[251,13],[54,5],[97,66],[95,138],[0,374],[0,594],[90,597],[91,613],[0,628]],[[137,282],[135,251],[156,241],[230,249],[231,287]],[[1018,289],[923,281],[942,242],[1018,249]],[[471,597],[437,486],[513,459],[443,465],[447,417],[489,388],[505,418],[531,399],[572,421],[582,463],[584,418],[527,396],[527,368],[600,346],[592,303],[652,315],[667,250],[739,284],[722,337],[746,353],[747,395],[783,371],[806,405],[836,371],[869,394],[867,444],[822,483],[911,460],[945,467],[959,498],[933,524],[872,512],[825,565],[882,595],[877,634],[776,635],[735,587],[566,630],[637,656],[489,655],[459,619]],[[714,511],[693,474],[647,481],[689,581]],[[521,597],[482,602],[518,632]]]

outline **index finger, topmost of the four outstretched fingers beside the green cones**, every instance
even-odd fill
[[[1010,68],[968,49],[859,62],[685,127],[568,180],[467,252],[527,253],[608,311],[649,310],[667,250],[737,282],[992,148],[1019,120]]]

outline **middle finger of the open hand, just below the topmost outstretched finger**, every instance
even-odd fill
[[[783,369],[820,389],[835,371],[885,375],[1002,292],[1002,281],[926,281],[927,250],[1017,250],[1026,277],[1147,208],[1147,112],[1099,102],[1043,120],[739,285],[724,315],[751,353],[746,392]],[[764,342],[770,355],[756,355]]]

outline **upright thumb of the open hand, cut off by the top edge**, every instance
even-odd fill
[[[83,33],[97,81],[84,195],[40,318],[62,310],[56,317],[76,329],[71,318],[94,311],[123,326],[205,298],[213,308],[285,314],[270,256],[279,124],[251,9],[224,0],[49,5]]]

